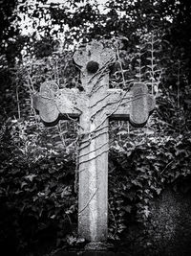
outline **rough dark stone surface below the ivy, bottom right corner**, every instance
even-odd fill
[[[150,200],[144,225],[130,222],[117,251],[132,256],[191,255],[191,194],[175,192],[169,184]]]

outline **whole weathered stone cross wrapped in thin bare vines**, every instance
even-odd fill
[[[58,116],[79,118],[78,235],[91,242],[107,240],[109,119],[146,124],[155,107],[147,86],[136,82],[130,91],[109,88],[108,67],[115,51],[93,41],[74,53],[84,90],[59,89],[53,81],[41,84],[33,105],[45,123]]]

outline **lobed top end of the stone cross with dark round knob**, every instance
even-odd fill
[[[98,69],[108,66],[116,60],[113,49],[104,48],[103,44],[96,40],[80,47],[74,53],[74,63],[78,65],[84,74],[95,74]]]

